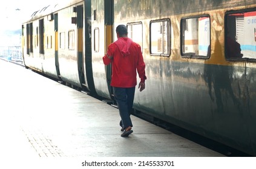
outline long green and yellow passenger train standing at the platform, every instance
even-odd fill
[[[256,0],[59,1],[23,22],[25,66],[114,103],[119,24],[146,64],[134,110],[256,156]]]

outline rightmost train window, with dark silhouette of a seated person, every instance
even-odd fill
[[[226,14],[225,55],[228,59],[256,59],[256,11]]]

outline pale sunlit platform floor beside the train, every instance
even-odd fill
[[[122,138],[118,109],[0,60],[0,155],[5,157],[220,157],[136,116]]]

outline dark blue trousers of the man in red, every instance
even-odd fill
[[[117,102],[117,106],[119,109],[119,114],[122,120],[122,126],[124,129],[126,127],[133,127],[133,123],[131,123],[131,110],[133,109],[133,100],[134,100],[134,88],[116,88],[113,87],[114,97]]]

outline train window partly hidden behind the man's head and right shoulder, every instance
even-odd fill
[[[128,37],[133,39],[134,42],[138,43],[143,49],[143,33],[142,33],[142,22],[128,23]]]

